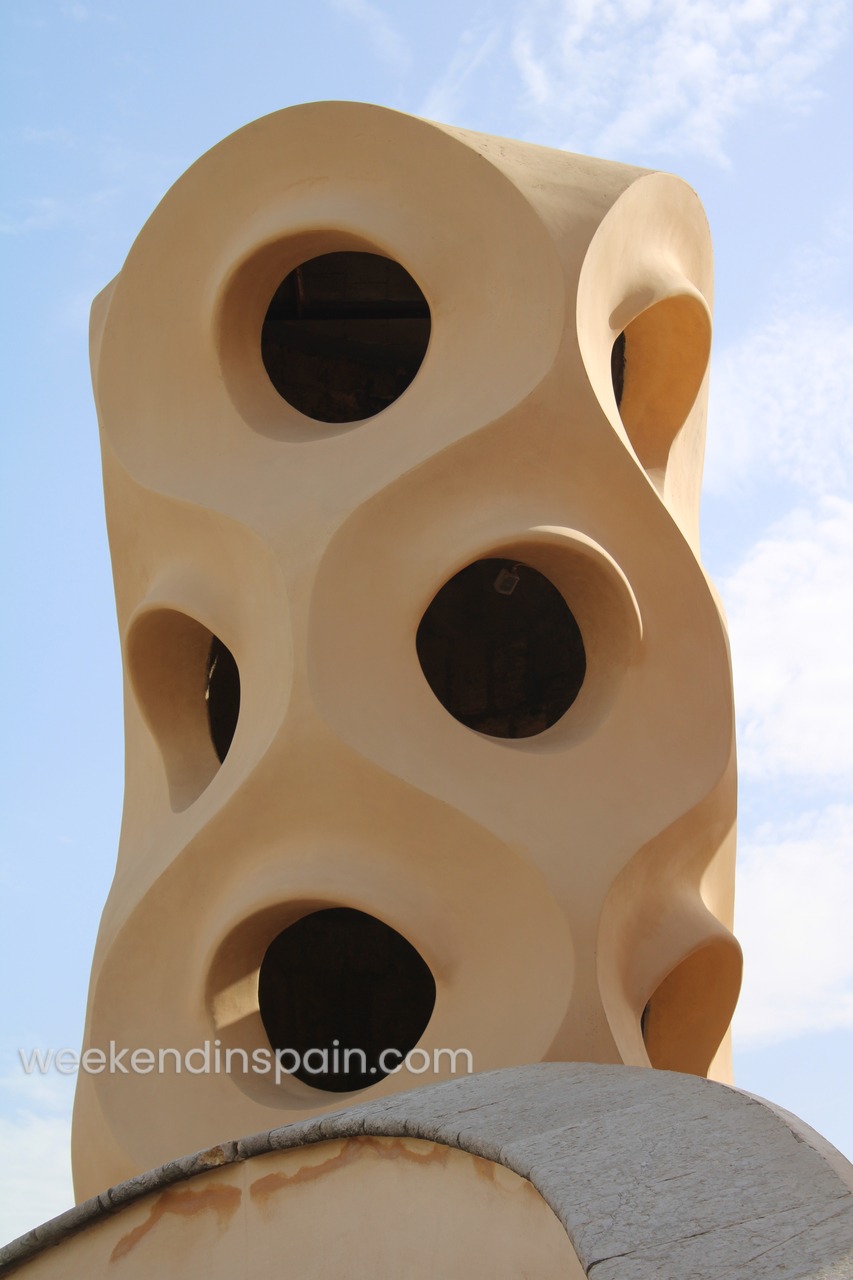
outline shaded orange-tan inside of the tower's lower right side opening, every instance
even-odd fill
[[[657,986],[640,1016],[653,1068],[707,1076],[740,993],[743,956],[731,934],[686,955]]]

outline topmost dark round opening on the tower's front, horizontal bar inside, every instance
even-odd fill
[[[406,390],[429,343],[426,298],[379,253],[323,253],[282,280],[261,330],[275,390],[319,422],[373,417]]]

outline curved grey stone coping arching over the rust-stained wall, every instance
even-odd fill
[[[0,1249],[0,1275],[213,1167],[336,1138],[414,1137],[528,1178],[594,1280],[853,1280],[853,1167],[802,1121],[670,1071],[542,1062],[223,1143]]]

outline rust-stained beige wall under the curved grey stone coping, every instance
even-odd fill
[[[26,1267],[27,1280],[178,1275],[583,1280],[585,1272],[529,1181],[412,1138],[347,1138],[214,1170]]]

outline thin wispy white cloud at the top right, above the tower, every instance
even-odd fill
[[[844,33],[844,0],[526,0],[512,52],[555,141],[612,155],[653,145],[725,163],[748,108],[802,109]]]

